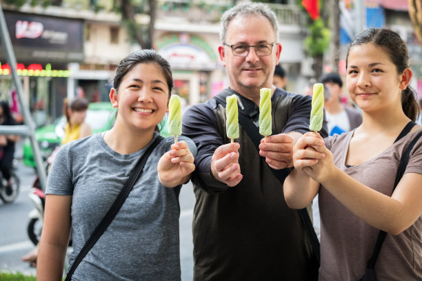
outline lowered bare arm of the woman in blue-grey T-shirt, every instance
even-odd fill
[[[47,195],[39,243],[37,280],[62,280],[70,237],[72,196]]]

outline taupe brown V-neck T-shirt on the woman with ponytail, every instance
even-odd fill
[[[334,155],[334,163],[346,174],[382,194],[391,196],[401,156],[422,129],[369,160],[346,167],[350,139],[354,131],[325,140]],[[422,174],[422,138],[410,152],[405,173]],[[379,229],[355,216],[322,185],[319,190],[321,214],[321,269],[319,280],[359,280],[374,251]],[[381,210],[380,210],[381,211]],[[388,234],[375,264],[378,280],[422,280],[422,216],[397,236]]]

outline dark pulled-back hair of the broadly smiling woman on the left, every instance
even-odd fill
[[[160,56],[154,50],[139,50],[136,52],[132,52],[124,59],[121,60],[119,65],[116,68],[116,74],[114,74],[114,79],[112,80],[112,86],[116,92],[119,91],[119,87],[121,81],[125,77],[126,74],[132,70],[133,67],[138,65],[139,63],[157,63],[163,72],[163,76],[165,77],[165,81],[168,85],[168,98],[170,98],[172,88],[173,88],[173,76],[172,76],[172,69],[170,67],[170,63],[166,61],[162,56]],[[159,128],[156,127],[156,130],[159,132]]]

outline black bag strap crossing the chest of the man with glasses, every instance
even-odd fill
[[[237,94],[237,93],[234,92],[233,90],[225,89],[221,92],[221,94],[214,96],[214,99],[225,107],[226,102],[225,102],[224,97],[230,94]],[[237,96],[239,96],[239,94],[237,94]],[[238,115],[239,123],[241,124],[246,134],[248,134],[252,143],[254,143],[255,148],[257,148],[257,150],[259,151],[259,144],[261,143],[261,134],[259,134],[257,126],[254,125],[254,123],[252,123],[252,120],[249,118],[251,114],[248,112],[245,112],[241,107],[239,107],[239,112],[241,113]],[[283,185],[284,180],[290,174],[290,171],[288,169],[272,169],[272,167],[269,167],[269,168],[272,171],[272,174],[274,174],[274,176],[276,176],[276,178],[279,180],[281,185]],[[305,227],[305,231],[308,234],[308,237],[312,244],[312,249],[314,249],[315,258],[318,261],[318,264],[320,264],[319,240],[318,240],[318,237],[316,236],[308,211],[306,210],[306,208],[299,209],[298,211],[299,211],[299,215],[301,216],[303,226]]]

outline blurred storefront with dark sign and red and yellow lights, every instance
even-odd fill
[[[83,61],[83,21],[5,11],[10,40],[22,79],[23,94],[37,126],[62,114],[68,96],[68,63]],[[14,88],[0,46],[1,99],[13,105]]]

